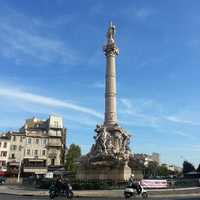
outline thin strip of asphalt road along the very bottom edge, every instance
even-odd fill
[[[57,197],[55,200],[64,200],[65,198]],[[73,200],[103,200],[106,198],[73,198]],[[124,198],[107,198],[109,200],[123,200]],[[137,200],[141,198],[137,198]],[[149,198],[149,200],[199,200],[200,197],[170,197],[170,198]],[[48,197],[36,197],[36,196],[15,196],[0,194],[0,200],[49,200]],[[66,199],[65,199],[66,200]],[[133,200],[131,198],[130,200]],[[136,199],[135,199],[136,200]]]

